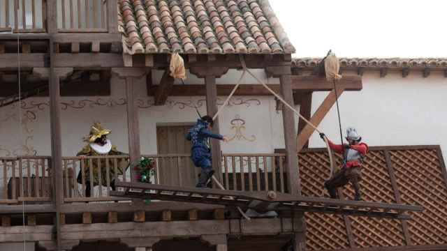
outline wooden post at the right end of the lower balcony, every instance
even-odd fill
[[[291,75],[281,75],[281,94],[288,104],[293,104]],[[301,183],[298,170],[298,154],[295,141],[295,114],[291,109],[282,109],[284,123],[284,143],[286,144],[286,163],[288,172],[288,192],[301,195]]]

